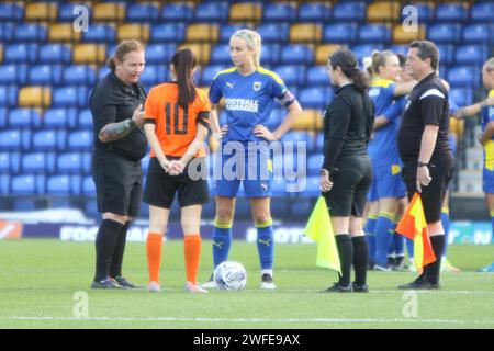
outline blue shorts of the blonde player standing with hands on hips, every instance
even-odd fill
[[[223,150],[221,157],[216,156],[214,167],[216,196],[236,197],[240,182],[244,184],[245,197],[271,196],[272,166],[269,149],[249,150],[244,145],[243,150],[238,148],[232,154]]]

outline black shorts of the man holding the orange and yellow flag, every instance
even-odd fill
[[[427,223],[435,223],[441,219],[442,203],[449,182],[454,172],[454,156],[449,152],[433,157],[429,162],[430,181],[428,186],[422,186],[422,202]],[[433,166],[434,165],[434,166]],[[403,181],[406,184],[408,200],[417,192],[417,162],[406,162],[402,171]]]

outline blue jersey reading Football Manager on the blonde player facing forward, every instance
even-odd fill
[[[225,99],[228,140],[258,141],[254,127],[266,125],[271,116],[274,99],[285,103],[287,87],[277,73],[259,67],[250,76],[242,76],[235,67],[220,71],[210,88],[210,101],[217,104]]]

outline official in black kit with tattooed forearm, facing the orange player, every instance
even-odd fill
[[[122,276],[127,229],[138,215],[147,140],[141,129],[146,93],[139,83],[144,47],[123,41],[109,58],[111,72],[94,88],[90,107],[94,125],[92,176],[103,220],[96,238],[92,288],[138,288]]]

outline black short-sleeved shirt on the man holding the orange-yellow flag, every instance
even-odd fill
[[[449,154],[448,91],[436,72],[420,80],[408,95],[397,135],[400,157],[403,162],[418,160],[422,135],[427,124],[439,126],[433,158]]]

